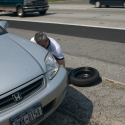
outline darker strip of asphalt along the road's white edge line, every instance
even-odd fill
[[[27,22],[27,21],[12,21],[7,20],[10,24],[10,28],[25,29],[32,31],[42,30],[48,33],[75,36],[82,38],[90,38],[97,40],[106,40],[109,42],[125,43],[124,34],[125,30],[120,29],[107,29],[96,28],[87,26],[73,26],[64,24],[53,23],[39,23],[39,22]]]

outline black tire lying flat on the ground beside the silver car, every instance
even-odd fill
[[[98,70],[92,67],[80,67],[70,71],[68,79],[70,84],[79,87],[90,86],[100,78]]]

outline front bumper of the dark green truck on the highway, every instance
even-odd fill
[[[24,6],[23,10],[25,12],[39,12],[39,11],[46,11],[48,10],[49,5],[44,6]]]

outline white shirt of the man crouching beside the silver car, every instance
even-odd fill
[[[46,48],[57,60],[64,59],[64,54],[62,52],[62,49],[60,45],[53,39],[49,38],[49,46]],[[34,37],[31,38],[31,41],[36,43]]]

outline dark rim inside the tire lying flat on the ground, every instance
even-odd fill
[[[87,71],[81,70],[81,71],[74,72],[73,75],[75,78],[78,78],[78,79],[87,79],[93,76],[93,72],[90,70],[87,70]]]

